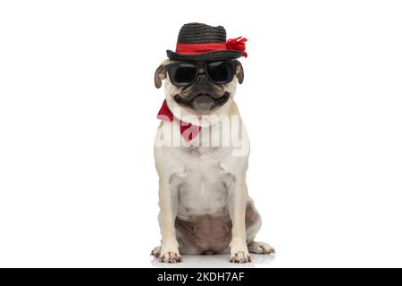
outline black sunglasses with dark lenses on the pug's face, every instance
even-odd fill
[[[165,70],[169,73],[172,84],[178,87],[186,87],[197,80],[199,71],[203,69],[206,77],[214,83],[223,84],[233,80],[238,63],[235,61],[221,62],[178,62],[166,64]]]

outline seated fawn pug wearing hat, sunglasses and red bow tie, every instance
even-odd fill
[[[166,97],[155,139],[162,244],[152,255],[160,262],[230,253],[230,262],[246,263],[250,252],[274,253],[254,241],[261,217],[247,194],[249,142],[233,101],[245,41],[226,42],[222,26],[189,23],[155,71]]]

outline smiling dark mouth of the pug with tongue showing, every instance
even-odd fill
[[[209,111],[224,105],[229,100],[229,92],[225,92],[221,97],[214,97],[210,94],[200,93],[195,97],[184,98],[180,95],[173,97],[174,101],[179,104],[195,110]]]

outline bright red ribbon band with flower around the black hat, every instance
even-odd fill
[[[202,54],[214,51],[234,50],[243,53],[247,57],[246,52],[247,38],[238,37],[230,38],[226,43],[202,43],[202,44],[181,44],[177,43],[176,53],[185,55]]]

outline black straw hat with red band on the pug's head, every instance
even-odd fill
[[[201,23],[188,23],[181,27],[176,52],[167,50],[172,60],[222,61],[246,56],[247,38],[230,38],[226,30]]]

